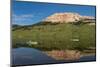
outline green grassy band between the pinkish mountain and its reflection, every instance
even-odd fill
[[[95,25],[56,24],[36,25],[12,31],[13,47],[32,47],[40,50],[85,50],[95,47]],[[73,42],[77,38],[79,42]],[[38,42],[29,46],[28,41]]]

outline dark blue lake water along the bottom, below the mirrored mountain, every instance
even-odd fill
[[[55,60],[43,52],[33,48],[15,48],[12,49],[12,65],[37,65],[37,64],[49,64],[49,63],[69,63],[69,62],[84,62],[95,61],[96,56],[84,56],[80,60],[76,61],[58,61]]]

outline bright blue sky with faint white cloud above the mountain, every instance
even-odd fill
[[[35,24],[47,16],[59,12],[76,12],[95,17],[94,6],[13,1],[12,23],[19,25]]]

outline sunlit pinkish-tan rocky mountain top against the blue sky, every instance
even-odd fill
[[[77,22],[80,20],[92,20],[95,19],[91,16],[82,16],[78,13],[54,13],[51,16],[47,17],[43,21],[52,22],[52,23],[69,23]]]

